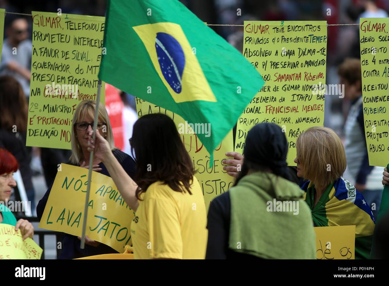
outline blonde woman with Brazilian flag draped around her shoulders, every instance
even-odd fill
[[[305,191],[314,226],[355,225],[355,258],[370,258],[373,213],[363,195],[342,178],[346,155],[338,135],[326,127],[308,128],[298,137],[296,151],[297,175],[308,180],[301,189]],[[240,154],[231,155],[235,160],[223,163],[231,164],[227,170],[237,176],[233,165],[243,164],[243,158]]]

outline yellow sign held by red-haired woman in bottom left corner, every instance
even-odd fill
[[[43,249],[34,240],[23,241],[20,230],[13,225],[0,223],[0,259],[40,259]]]

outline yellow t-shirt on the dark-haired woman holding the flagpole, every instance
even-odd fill
[[[155,182],[131,223],[134,259],[204,259],[207,248],[207,212],[196,177],[191,193],[173,191]]]

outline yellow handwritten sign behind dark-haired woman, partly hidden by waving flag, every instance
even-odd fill
[[[232,130],[214,150],[214,161],[210,168],[210,154],[200,142],[197,135],[193,132],[193,126],[187,123],[184,118],[172,111],[151,104],[140,98],[136,98],[136,104],[138,117],[151,113],[163,113],[173,119],[177,126],[177,130],[180,133],[181,140],[185,145],[186,151],[192,159],[193,167],[195,171],[197,171],[195,175],[202,188],[205,207],[208,211],[209,204],[214,197],[225,193],[235,182],[235,178],[231,177],[223,170],[223,167],[226,165],[221,163],[224,159],[231,159],[231,157],[226,157],[226,152],[233,150]],[[203,132],[211,132],[207,126],[202,126],[200,130],[203,130]]]

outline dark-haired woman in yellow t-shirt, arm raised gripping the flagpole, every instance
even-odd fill
[[[130,140],[137,163],[137,184],[98,132],[95,145],[90,138],[88,150],[95,150],[135,211],[131,223],[134,258],[204,259],[204,198],[173,120],[164,114],[145,115],[135,123]]]

